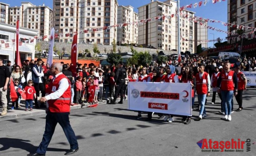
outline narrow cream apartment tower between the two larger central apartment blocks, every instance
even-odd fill
[[[117,8],[117,23],[130,23],[138,20],[138,14],[133,12],[131,5],[120,5]],[[117,45],[119,44],[138,44],[138,25],[131,24],[117,28]]]

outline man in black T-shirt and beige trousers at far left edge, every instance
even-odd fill
[[[7,85],[10,80],[9,68],[4,66],[4,59],[0,57],[0,99],[3,104],[3,111],[1,116],[7,114]]]

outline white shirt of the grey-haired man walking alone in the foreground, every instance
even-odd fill
[[[59,75],[61,75],[62,72],[58,73],[57,75],[55,75],[55,78],[58,77]],[[54,78],[54,79],[55,79]],[[53,79],[53,81],[54,81]],[[55,92],[49,94],[48,96],[45,96],[45,98],[47,100],[54,100],[54,99],[57,99],[59,97],[62,96],[62,94],[67,90],[67,88],[71,87],[70,84],[69,84],[69,81],[67,81],[67,79],[61,79],[59,81],[59,88],[58,90],[56,90]]]

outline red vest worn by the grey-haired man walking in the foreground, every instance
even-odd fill
[[[59,81],[62,79],[67,79],[67,77],[64,74],[58,75],[53,80],[51,80],[49,84],[49,89],[46,90],[46,93],[53,93],[59,88]],[[69,79],[67,79],[69,82],[69,87],[67,90],[61,95],[61,97],[54,99],[54,100],[48,100],[49,104],[49,111],[52,113],[66,113],[70,112],[70,98],[71,98],[71,85]]]

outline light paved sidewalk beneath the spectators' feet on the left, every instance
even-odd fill
[[[103,105],[106,103],[107,103],[106,100],[103,100],[103,102],[98,102],[99,105]],[[16,109],[11,110],[11,106],[12,106],[12,104],[10,103],[7,107],[7,114],[4,116],[0,116],[0,121],[8,120],[8,119],[17,119],[17,118],[22,118],[22,117],[29,117],[29,116],[34,116],[34,115],[41,115],[41,114],[45,114],[45,110],[46,110],[46,108],[36,109],[33,106],[33,111],[30,111],[30,110],[25,111],[25,100],[21,100],[21,102],[20,102],[21,107],[18,110],[16,110]],[[86,105],[83,106],[83,108],[86,108],[87,106],[89,106],[88,103],[86,103]],[[70,110],[79,109],[79,108],[81,108],[80,104],[70,106]],[[2,112],[2,109],[3,108],[0,108],[1,112]]]

